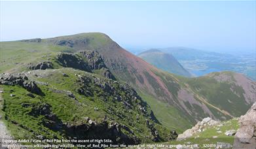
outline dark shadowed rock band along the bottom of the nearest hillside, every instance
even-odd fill
[[[46,103],[22,106],[31,107],[29,114],[32,116],[45,116],[42,124],[54,131],[64,133],[67,139],[111,139],[115,144],[138,144],[140,142],[128,127],[117,122],[108,122],[107,118],[102,122],[96,122],[87,117],[84,124],[66,124],[51,111],[52,107]]]

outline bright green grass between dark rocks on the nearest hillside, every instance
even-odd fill
[[[53,131],[42,125],[45,116],[31,116],[31,114],[29,114],[32,110],[31,106],[22,107],[24,103],[27,105],[35,105],[35,107],[46,103],[51,106],[52,112],[56,114],[64,124],[84,124],[86,123],[84,122],[86,116],[100,123],[106,115],[109,120],[128,126],[134,132],[134,135],[141,139],[142,142],[152,142],[151,131],[146,126],[146,121],[147,119],[149,120],[149,117],[141,114],[136,103],[132,103],[132,109],[127,109],[121,102],[113,101],[115,97],[111,95],[111,93],[109,94],[101,90],[100,87],[94,85],[94,82],[88,84],[88,90],[93,91],[94,94],[92,97],[85,97],[76,91],[79,85],[77,84],[77,76],[75,76],[75,74],[88,76],[88,79],[91,80],[97,77],[109,82],[108,79],[98,76],[98,74],[86,73],[74,69],[49,69],[47,71],[31,72],[29,79],[37,82],[48,82],[48,86],[38,85],[45,93],[45,96],[35,95],[35,98],[31,98],[26,95],[28,91],[20,86],[1,86],[5,90],[3,93],[3,99],[5,99],[3,111],[5,112],[5,118],[7,118],[7,126],[15,138],[31,139],[35,138],[37,135],[43,135],[48,139],[53,139],[54,137],[61,139],[65,137],[62,131]],[[68,74],[69,77],[62,76],[62,73]],[[37,74],[39,77],[33,74]],[[122,91],[120,85],[113,83],[113,80],[111,80],[111,82],[111,84],[115,86],[117,94],[122,96],[122,99],[130,100],[130,97],[127,95],[128,92]],[[58,93],[58,91],[56,92],[56,90],[60,93]],[[65,94],[67,90],[75,95],[77,101],[67,97]],[[10,93],[16,96],[10,97]],[[103,97],[106,98],[107,101],[103,101]],[[94,110],[94,107],[99,110]],[[150,112],[148,106],[147,111]],[[139,116],[138,120],[137,116]],[[153,122],[151,121],[151,123]],[[167,141],[168,129],[159,124],[155,125],[158,128],[160,136]]]

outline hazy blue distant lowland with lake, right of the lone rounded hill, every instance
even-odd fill
[[[254,53],[221,54],[185,47],[159,48],[158,50],[172,54],[194,76],[217,71],[234,71],[256,80]]]

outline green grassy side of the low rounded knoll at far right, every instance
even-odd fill
[[[189,84],[192,90],[205,97],[211,105],[226,110],[232,116],[241,116],[250,107],[245,104],[244,90],[235,84],[217,82],[217,80],[209,76],[187,78],[185,82]]]

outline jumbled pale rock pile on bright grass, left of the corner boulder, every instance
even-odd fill
[[[212,120],[211,118],[204,118],[201,122],[198,122],[194,127],[191,129],[187,129],[184,133],[180,134],[177,137],[177,141],[181,141],[183,139],[187,139],[189,137],[192,137],[196,133],[200,133],[205,130],[206,126],[212,126],[219,124],[218,121]]]

